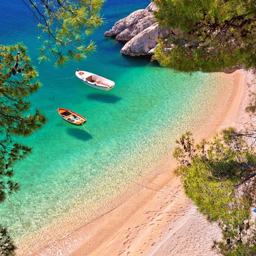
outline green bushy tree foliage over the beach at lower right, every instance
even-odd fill
[[[230,128],[211,143],[194,145],[188,132],[173,153],[186,195],[208,220],[220,223],[223,240],[213,248],[222,255],[254,255],[256,250],[256,226],[250,220],[256,202],[256,153],[247,138]]]

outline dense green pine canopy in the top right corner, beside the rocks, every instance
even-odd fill
[[[175,31],[154,52],[180,71],[256,67],[256,4],[252,0],[155,0],[159,24]]]

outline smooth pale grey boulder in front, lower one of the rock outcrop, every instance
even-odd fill
[[[121,49],[121,53],[130,56],[152,55],[157,47],[158,38],[164,38],[170,34],[172,34],[171,29],[163,29],[156,22],[127,42]]]

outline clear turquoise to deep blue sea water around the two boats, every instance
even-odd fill
[[[31,97],[32,108],[42,109],[48,118],[42,130],[22,140],[33,154],[15,168],[19,193],[11,196],[11,204],[1,205],[0,222],[18,244],[57,220],[70,221],[70,213],[75,229],[115,207],[122,193],[132,194],[129,188],[140,174],[152,175],[150,167],[211,104],[218,87],[209,75],[182,74],[148,58],[122,56],[123,44],[104,38],[115,21],[148,4],[106,1],[106,23],[92,36],[98,51],[83,63],[56,70],[53,63],[37,63],[35,25],[21,1],[1,1],[1,43],[28,46],[43,83]],[[11,21],[10,13],[15,13]],[[116,87],[110,92],[90,88],[75,77],[76,68],[108,77]],[[84,116],[85,129],[63,121],[58,107]]]

